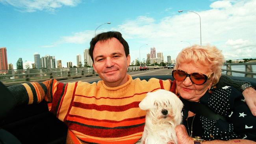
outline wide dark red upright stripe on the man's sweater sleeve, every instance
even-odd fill
[[[57,85],[57,90],[54,93],[54,96],[52,98],[52,109],[50,111],[51,113],[57,114],[56,110],[58,109],[58,102],[63,90],[63,85],[64,85],[63,83],[58,83]]]

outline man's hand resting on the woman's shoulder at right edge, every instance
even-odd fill
[[[256,116],[256,90],[249,87],[243,91],[243,96],[245,97],[245,102],[247,103],[250,111],[254,116]]]

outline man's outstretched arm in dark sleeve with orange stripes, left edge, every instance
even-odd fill
[[[44,82],[22,83],[5,87],[2,83],[0,89],[0,119],[19,105],[39,103],[43,100],[52,101],[52,96],[56,91],[56,79],[50,79]]]

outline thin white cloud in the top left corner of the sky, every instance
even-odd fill
[[[0,0],[0,2],[31,13],[35,11],[55,12],[62,6],[76,6],[81,0]]]

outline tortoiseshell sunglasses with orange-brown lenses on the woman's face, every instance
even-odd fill
[[[210,77],[213,75],[211,74],[209,77],[205,74],[201,74],[198,72],[194,72],[191,74],[188,74],[187,72],[183,70],[173,70],[172,72],[173,78],[176,79],[176,81],[184,81],[187,77],[191,80],[192,83],[196,85],[202,85],[210,79]]]

